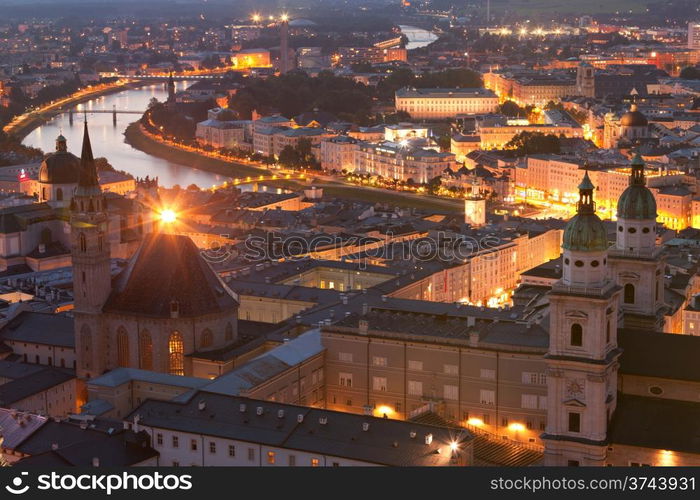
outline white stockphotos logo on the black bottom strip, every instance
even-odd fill
[[[13,495],[24,495],[29,491],[90,491],[111,495],[118,491],[188,491],[192,489],[190,474],[62,474],[51,472],[36,476],[36,484],[31,485],[29,472],[16,475],[5,486]]]

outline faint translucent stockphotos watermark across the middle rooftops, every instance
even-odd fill
[[[298,260],[307,256],[324,258],[336,252],[354,255],[358,260],[407,260],[413,262],[454,262],[481,255],[484,259],[496,257],[497,248],[503,243],[495,234],[480,235],[479,238],[455,235],[444,231],[434,236],[416,239],[401,239],[392,233],[381,238],[351,234],[317,234],[310,237],[282,236],[268,232],[265,236],[251,235],[237,250],[221,240],[213,240],[209,248],[202,251],[205,260],[222,264],[243,257],[251,263],[280,260]]]

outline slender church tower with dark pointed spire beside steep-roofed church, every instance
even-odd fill
[[[103,372],[100,313],[111,292],[111,266],[105,200],[97,178],[87,121],[80,178],[70,211],[77,373],[79,377],[89,378]]]

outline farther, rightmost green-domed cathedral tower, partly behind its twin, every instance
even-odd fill
[[[627,189],[617,202],[617,239],[610,250],[610,275],[623,289],[626,328],[663,327],[664,259],[656,245],[656,200],[646,187],[644,161],[632,160]]]

